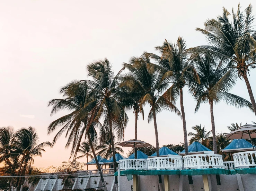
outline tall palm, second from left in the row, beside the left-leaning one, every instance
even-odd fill
[[[91,125],[95,120],[103,118],[103,128],[109,131],[111,138],[111,146],[113,152],[114,171],[116,172],[116,158],[115,158],[115,145],[114,145],[114,133],[118,140],[122,140],[124,137],[124,129],[128,122],[128,116],[123,109],[122,105],[117,99],[118,91],[118,76],[114,76],[114,70],[111,63],[105,58],[104,60],[98,60],[90,63],[87,66],[88,77],[92,77],[93,80],[86,80],[90,86],[90,96],[94,97],[91,103],[95,106],[87,107],[92,110],[91,117],[88,125]],[[115,177],[116,190],[118,189],[117,177]]]

